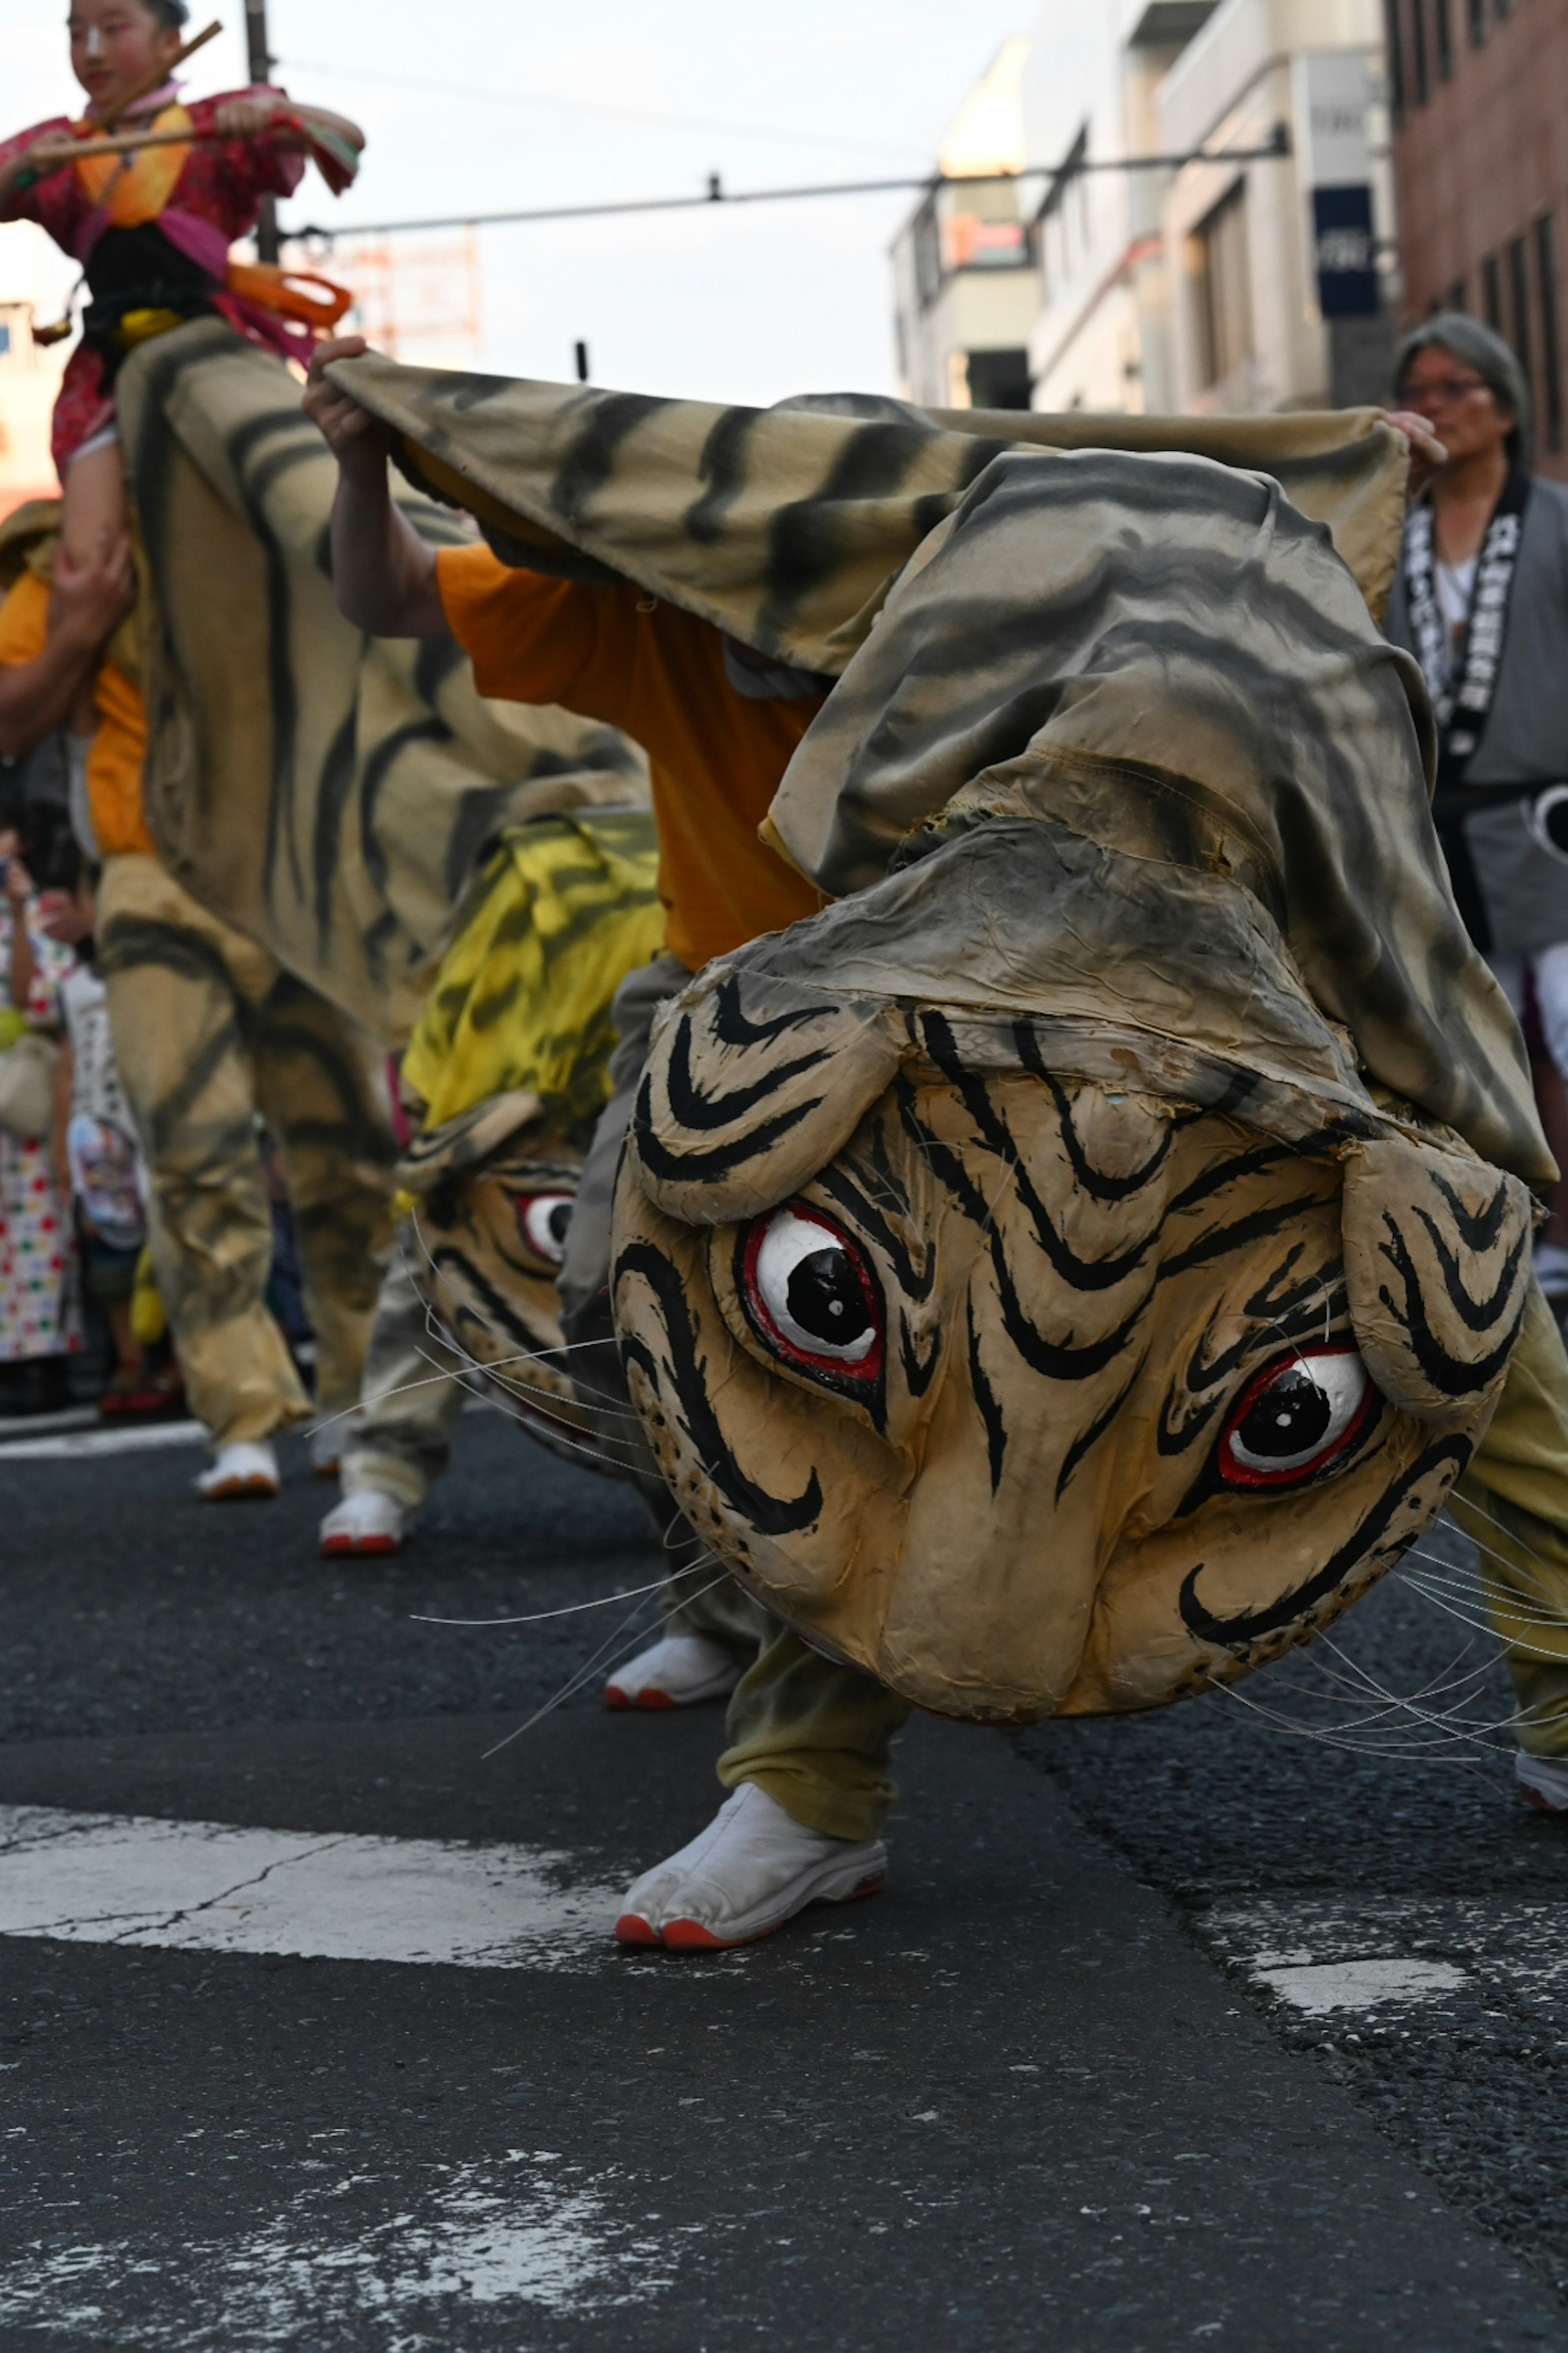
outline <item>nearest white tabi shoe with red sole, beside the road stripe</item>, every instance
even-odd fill
[[[853,1904],[886,1880],[879,1838],[804,1831],[755,1781],[743,1781],[708,1828],[625,1892],[618,1944],[715,1953],[755,1944],[806,1904]]]

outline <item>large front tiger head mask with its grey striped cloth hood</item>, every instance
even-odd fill
[[[1366,1591],[1486,1428],[1552,1172],[1420,687],[1321,534],[1074,464],[999,461],[893,593],[773,805],[842,896],[668,1009],[616,1200],[691,1525],[994,1720]]]

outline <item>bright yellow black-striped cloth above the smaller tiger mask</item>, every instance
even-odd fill
[[[402,1059],[425,1129],[515,1089],[562,1127],[604,1108],[611,998],[663,948],[656,875],[642,809],[541,816],[501,838]]]

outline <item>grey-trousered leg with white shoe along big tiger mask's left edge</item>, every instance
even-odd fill
[[[621,1146],[649,1059],[654,1014],[689,979],[684,965],[661,955],[628,974],[616,991],[614,1019],[621,1042],[609,1066],[611,1099],[583,1162],[559,1273],[571,1377],[578,1398],[595,1417],[595,1445],[632,1473],[672,1562],[663,1595],[663,1638],[611,1673],[607,1685],[611,1706],[689,1706],[729,1692],[743,1661],[755,1657],[773,1626],[762,1602],[741,1591],[724,1562],[715,1560],[675,1511],[637,1424],[609,1306],[611,1207]]]

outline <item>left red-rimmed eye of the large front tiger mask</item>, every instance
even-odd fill
[[[745,1306],[785,1360],[837,1381],[870,1386],[882,1372],[882,1301],[849,1235],[818,1209],[759,1217],[741,1261]]]

